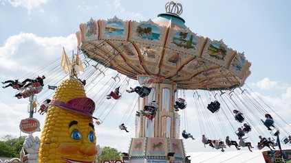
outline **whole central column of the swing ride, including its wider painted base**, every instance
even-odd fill
[[[184,162],[184,145],[179,139],[179,114],[173,108],[176,84],[147,75],[139,75],[138,82],[152,87],[149,96],[138,97],[138,110],[143,110],[152,101],[158,102],[158,110],[153,118],[150,115],[136,116],[136,138],[131,139],[130,162]]]

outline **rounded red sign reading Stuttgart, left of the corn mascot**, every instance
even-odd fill
[[[19,128],[21,131],[27,134],[34,133],[35,131],[41,131],[39,120],[36,118],[26,118],[21,120]]]

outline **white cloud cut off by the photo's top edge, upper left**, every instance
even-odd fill
[[[28,10],[28,15],[32,10],[37,9],[39,12],[43,12],[41,5],[47,3],[49,0],[7,0],[14,8],[22,7]]]

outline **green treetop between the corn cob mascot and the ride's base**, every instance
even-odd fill
[[[115,148],[103,147],[102,154],[98,157],[98,162],[104,160],[120,160],[120,153]]]

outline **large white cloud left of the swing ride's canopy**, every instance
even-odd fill
[[[63,47],[74,49],[76,36],[42,38],[34,34],[22,33],[10,36],[0,47],[1,76],[12,72],[30,72],[43,63],[61,57]]]

